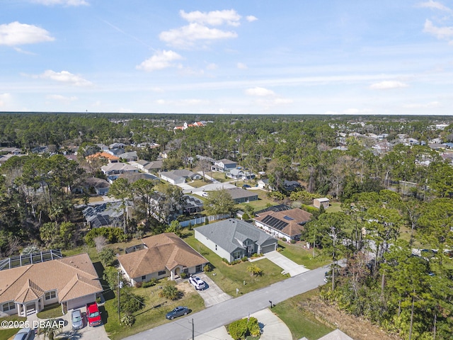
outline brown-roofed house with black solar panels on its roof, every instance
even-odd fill
[[[289,209],[282,211],[268,210],[258,212],[253,222],[256,227],[263,229],[273,237],[299,241],[304,230],[304,225],[309,222],[311,213],[302,209]]]

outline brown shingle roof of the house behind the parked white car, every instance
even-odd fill
[[[208,262],[173,232],[145,237],[142,242],[147,249],[118,256],[130,278],[165,269],[171,271],[178,265],[190,268]]]

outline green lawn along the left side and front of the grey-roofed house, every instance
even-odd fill
[[[263,269],[263,276],[250,276],[246,271],[247,267],[251,265],[250,262],[246,261],[234,266],[224,263],[217,254],[214,254],[214,251],[207,249],[206,246],[198,242],[192,232],[190,232],[190,236],[185,237],[184,241],[210,261],[214,270],[208,275],[225,293],[231,296],[236,296],[236,288],[239,288],[239,294],[246,294],[287,278],[287,276],[281,274],[282,268],[268,259],[254,262],[259,268]],[[243,285],[244,281],[246,285]]]

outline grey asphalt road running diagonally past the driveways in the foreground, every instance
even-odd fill
[[[221,327],[224,324],[229,324],[236,319],[247,317],[249,313],[252,314],[266,307],[270,307],[270,300],[275,305],[278,302],[289,299],[289,297],[299,295],[319,285],[323,285],[325,272],[325,267],[317,268],[314,271],[307,271],[306,273],[287,278],[268,287],[221,302],[200,312],[188,314],[187,317],[179,317],[172,322],[129,336],[125,339],[192,339],[192,320],[195,324],[195,336],[205,334],[207,331]],[[241,287],[238,288],[240,291]]]

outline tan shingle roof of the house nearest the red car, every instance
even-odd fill
[[[59,302],[62,302],[100,293],[103,288],[88,254],[0,271],[0,303],[35,300],[50,290],[57,290]]]

